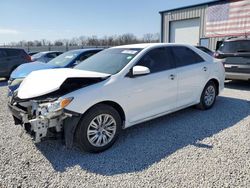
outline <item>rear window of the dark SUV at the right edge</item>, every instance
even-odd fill
[[[223,42],[219,51],[223,53],[250,52],[250,40]]]

